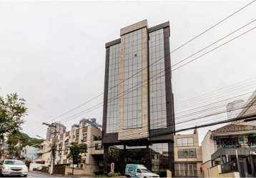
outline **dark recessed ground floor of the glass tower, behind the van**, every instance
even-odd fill
[[[107,172],[111,171],[114,163],[114,172],[124,174],[126,164],[143,164],[152,172],[166,177],[166,170],[174,169],[174,155],[172,143],[154,143],[147,146],[115,145],[104,147],[104,163]]]

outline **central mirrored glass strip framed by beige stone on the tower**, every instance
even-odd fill
[[[142,127],[142,30],[124,36],[123,128]]]

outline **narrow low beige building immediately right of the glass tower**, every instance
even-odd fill
[[[174,135],[175,177],[202,177],[202,147],[197,130],[193,134]]]

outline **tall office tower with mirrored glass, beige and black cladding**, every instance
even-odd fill
[[[106,43],[103,139],[105,169],[144,164],[153,172],[174,170],[174,111],[169,22],[147,20],[121,28]]]

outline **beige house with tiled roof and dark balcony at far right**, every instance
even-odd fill
[[[256,126],[229,124],[202,141],[204,177],[256,177]]]

